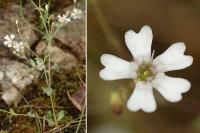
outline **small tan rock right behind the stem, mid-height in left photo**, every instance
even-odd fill
[[[74,66],[78,64],[78,60],[74,55],[69,52],[64,52],[61,48],[57,46],[48,47],[51,56],[51,62],[53,64],[59,65],[60,68],[71,70]]]

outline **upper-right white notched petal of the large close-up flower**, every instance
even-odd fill
[[[182,42],[171,45],[164,53],[153,60],[155,71],[167,72],[190,66],[193,57],[184,55],[185,49],[185,44]]]

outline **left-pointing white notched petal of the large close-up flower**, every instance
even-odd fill
[[[102,55],[100,60],[105,66],[99,73],[104,80],[133,79],[137,75],[137,65],[134,62],[128,62],[110,54]]]

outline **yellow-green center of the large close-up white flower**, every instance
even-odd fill
[[[151,70],[151,65],[150,64],[142,64],[140,65],[138,71],[138,80],[140,81],[147,81],[149,78],[153,77],[153,72]]]

